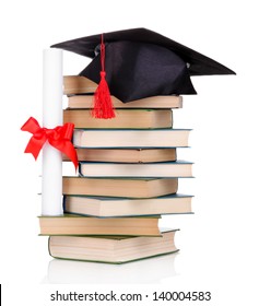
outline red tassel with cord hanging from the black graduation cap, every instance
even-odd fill
[[[92,110],[92,116],[99,119],[110,119],[115,117],[115,111],[109,93],[109,87],[105,79],[105,44],[103,34],[101,44],[101,81],[97,90],[94,93],[94,108]]]

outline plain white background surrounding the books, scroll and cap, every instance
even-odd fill
[[[49,294],[58,289],[211,291],[213,297],[208,305],[258,305],[256,3],[10,0],[1,4],[3,305],[54,305]],[[32,155],[23,154],[30,134],[20,131],[30,116],[42,120],[43,49],[76,37],[132,27],[158,32],[237,73],[192,78],[198,95],[185,96],[184,108],[174,113],[175,127],[193,128],[192,148],[179,151],[179,157],[195,162],[196,178],[180,181],[181,192],[196,196],[195,215],[163,217],[163,225],[181,229],[176,237],[180,248],[177,256],[122,267],[54,261],[47,238],[37,236],[40,158],[35,163]],[[64,74],[79,73],[87,63],[83,57],[64,52]]]

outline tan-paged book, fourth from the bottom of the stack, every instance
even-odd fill
[[[155,198],[176,193],[177,189],[177,178],[62,177],[63,195]]]

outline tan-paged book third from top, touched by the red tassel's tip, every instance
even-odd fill
[[[67,108],[63,122],[85,129],[161,129],[173,127],[173,114],[170,109],[116,109],[111,120],[96,120],[89,109]]]

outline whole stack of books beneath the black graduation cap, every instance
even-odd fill
[[[181,96],[153,96],[123,104],[113,98],[116,118],[91,116],[96,84],[64,76],[74,123],[78,176],[63,176],[62,216],[42,216],[55,258],[121,263],[175,252],[177,229],[160,228],[163,214],[191,213],[191,196],[179,195],[178,179],[192,164],[177,158],[190,130],[173,128]],[[66,156],[63,156],[66,160]]]

